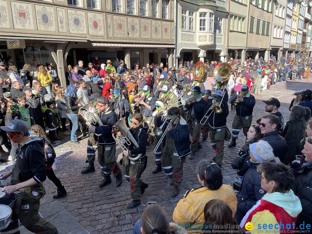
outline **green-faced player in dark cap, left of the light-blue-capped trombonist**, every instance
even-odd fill
[[[193,89],[193,96],[199,95],[201,93],[200,88],[195,86]],[[199,149],[202,149],[202,144],[199,141],[200,131],[202,128],[202,124],[200,121],[204,117],[204,109],[206,107],[206,102],[202,98],[202,96],[197,96],[188,101],[188,103],[184,106],[188,110],[188,114],[186,116],[186,122],[188,123],[188,130],[192,136],[192,144],[191,144],[191,154],[190,159],[195,158],[196,152]]]

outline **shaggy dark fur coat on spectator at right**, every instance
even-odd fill
[[[299,111],[296,115],[291,114],[291,116],[295,116],[295,118],[291,118],[286,122],[285,129],[283,131],[282,137],[284,137],[286,144],[288,146],[288,150],[286,152],[285,160],[283,163],[288,165],[293,160],[295,160],[295,156],[301,154],[300,146],[301,139],[303,139],[305,134],[305,129],[307,127],[307,122],[304,119],[305,109],[304,108],[293,108],[293,111]]]

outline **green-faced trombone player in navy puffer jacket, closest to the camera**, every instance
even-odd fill
[[[171,108],[170,108],[171,109]],[[175,113],[174,111],[178,112]],[[174,185],[171,197],[176,197],[179,193],[183,176],[183,163],[185,157],[190,153],[189,130],[186,121],[180,116],[178,108],[172,108],[168,111],[170,119],[176,117],[172,124],[172,129],[167,131],[164,138],[165,146],[163,147],[161,164],[168,178],[172,179],[171,185]],[[173,116],[175,114],[175,116]],[[167,121],[168,122],[168,121]],[[155,127],[162,124],[161,117],[155,117]]]

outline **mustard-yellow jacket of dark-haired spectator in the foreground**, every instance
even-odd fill
[[[191,189],[175,207],[173,221],[181,228],[187,228],[188,232],[201,233],[205,221],[204,208],[212,199],[227,203],[234,217],[237,206],[236,195],[230,185],[223,184],[218,190],[210,190],[207,187]]]

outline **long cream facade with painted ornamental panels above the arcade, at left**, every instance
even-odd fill
[[[0,6],[3,60],[52,63],[61,85],[67,64],[86,66],[95,56],[101,63],[125,60],[128,68],[173,65],[172,0],[0,0]]]

